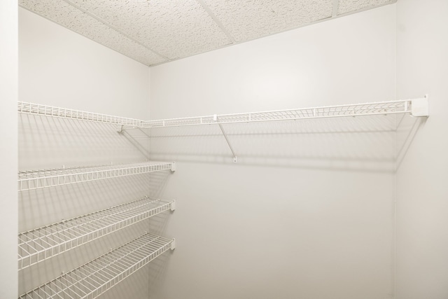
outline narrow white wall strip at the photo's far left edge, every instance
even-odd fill
[[[17,276],[17,1],[0,2],[0,298],[18,297]]]

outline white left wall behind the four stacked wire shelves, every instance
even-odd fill
[[[19,11],[19,63],[21,101],[129,118],[149,117],[148,67],[23,9]],[[117,125],[28,114],[20,114],[18,120],[20,170],[116,165],[149,158],[148,137],[138,130],[119,133]],[[149,194],[149,179],[145,174],[22,191],[19,231],[137,200]],[[15,188],[16,183],[11,186]],[[143,221],[21,270],[19,293],[146,230],[148,221]],[[17,240],[17,232],[14,234]],[[17,249],[14,251],[15,259]],[[139,270],[102,298],[147,298],[148,275],[147,267]]]

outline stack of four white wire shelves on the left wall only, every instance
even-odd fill
[[[118,125],[123,127],[143,127],[144,120],[109,116],[65,109],[55,106],[18,102],[18,113],[29,116],[66,118],[95,123]],[[109,126],[110,127],[110,126]],[[120,138],[120,137],[118,137]],[[57,169],[38,169],[18,173],[18,191],[34,190],[72,183],[83,183],[121,176],[148,174],[151,172],[176,170],[175,162],[139,162],[123,165],[97,165],[89,167],[62,167]],[[101,188],[101,186],[98,186]],[[31,193],[30,193],[31,194]],[[34,194],[31,194],[34,195]],[[41,196],[36,194],[37,196]],[[45,195],[44,195],[45,196]],[[76,249],[88,242],[106,235],[117,233],[134,223],[174,210],[174,201],[156,200],[144,197],[139,200],[109,207],[101,211],[77,216],[69,220],[45,225],[22,232],[18,235],[18,270],[27,275],[27,271],[39,270],[41,262],[50,260],[61,253]],[[125,231],[122,230],[123,233]],[[119,235],[118,235],[119,236]],[[126,279],[141,267],[151,262],[168,249],[174,249],[174,239],[145,233],[137,239],[109,251],[89,263],[80,265],[70,272],[50,280],[31,291],[24,290],[20,298],[97,298],[123,279]],[[31,267],[36,265],[36,267]],[[79,264],[78,264],[79,265]]]

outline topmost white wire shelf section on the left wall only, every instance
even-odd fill
[[[116,125],[127,125],[131,127],[141,127],[144,120],[134,118],[123,118],[120,116],[109,116],[106,114],[18,102],[18,112],[34,114],[39,116],[51,116],[55,118],[71,118],[77,120],[88,120],[97,123],[112,123]]]

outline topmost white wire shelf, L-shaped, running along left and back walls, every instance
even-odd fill
[[[412,116],[428,116],[428,97],[401,99],[388,102],[369,102],[336,106],[319,106],[303,109],[260,111],[235,114],[214,114],[190,118],[168,118],[162,120],[137,120],[120,116],[109,116],[87,111],[60,108],[27,102],[18,102],[18,112],[55,118],[73,118],[98,123],[122,125],[123,129],[144,127],[179,127],[186,125],[213,125],[226,123],[255,123],[265,121],[299,120],[309,118],[337,118],[347,116],[374,116],[381,114],[409,113]]]

